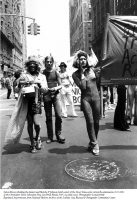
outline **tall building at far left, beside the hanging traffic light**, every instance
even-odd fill
[[[25,0],[0,0],[0,65],[6,64],[15,71],[22,68],[25,33]]]

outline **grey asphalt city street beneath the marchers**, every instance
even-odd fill
[[[59,144],[56,140],[46,144],[43,111],[40,116],[43,147],[41,151],[32,154],[29,152],[26,125],[20,143],[3,148],[15,103],[13,98],[6,99],[6,90],[0,90],[1,188],[137,189],[137,126],[131,125],[131,132],[114,130],[114,110],[108,110],[106,118],[100,121],[100,155],[93,156],[87,151],[88,135],[79,106],[76,107],[77,118],[63,118],[65,144]],[[89,178],[91,174],[88,170],[91,168],[94,177],[93,172],[97,168],[100,175]],[[103,170],[106,176],[101,178]]]

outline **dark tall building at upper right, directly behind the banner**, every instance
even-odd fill
[[[92,9],[92,45],[101,58],[106,15],[137,15],[136,0],[90,0]]]

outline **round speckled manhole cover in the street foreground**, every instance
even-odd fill
[[[76,179],[90,182],[137,175],[121,162],[102,158],[85,158],[71,161],[66,165],[65,171]]]

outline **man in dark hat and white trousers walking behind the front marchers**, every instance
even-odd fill
[[[61,105],[62,105],[62,117],[67,118],[67,107],[66,107],[66,100],[68,101],[70,108],[71,108],[71,116],[78,117],[75,112],[73,98],[72,98],[72,87],[70,82],[70,77],[66,71],[67,65],[64,62],[61,62],[60,65],[60,78],[61,78]]]

